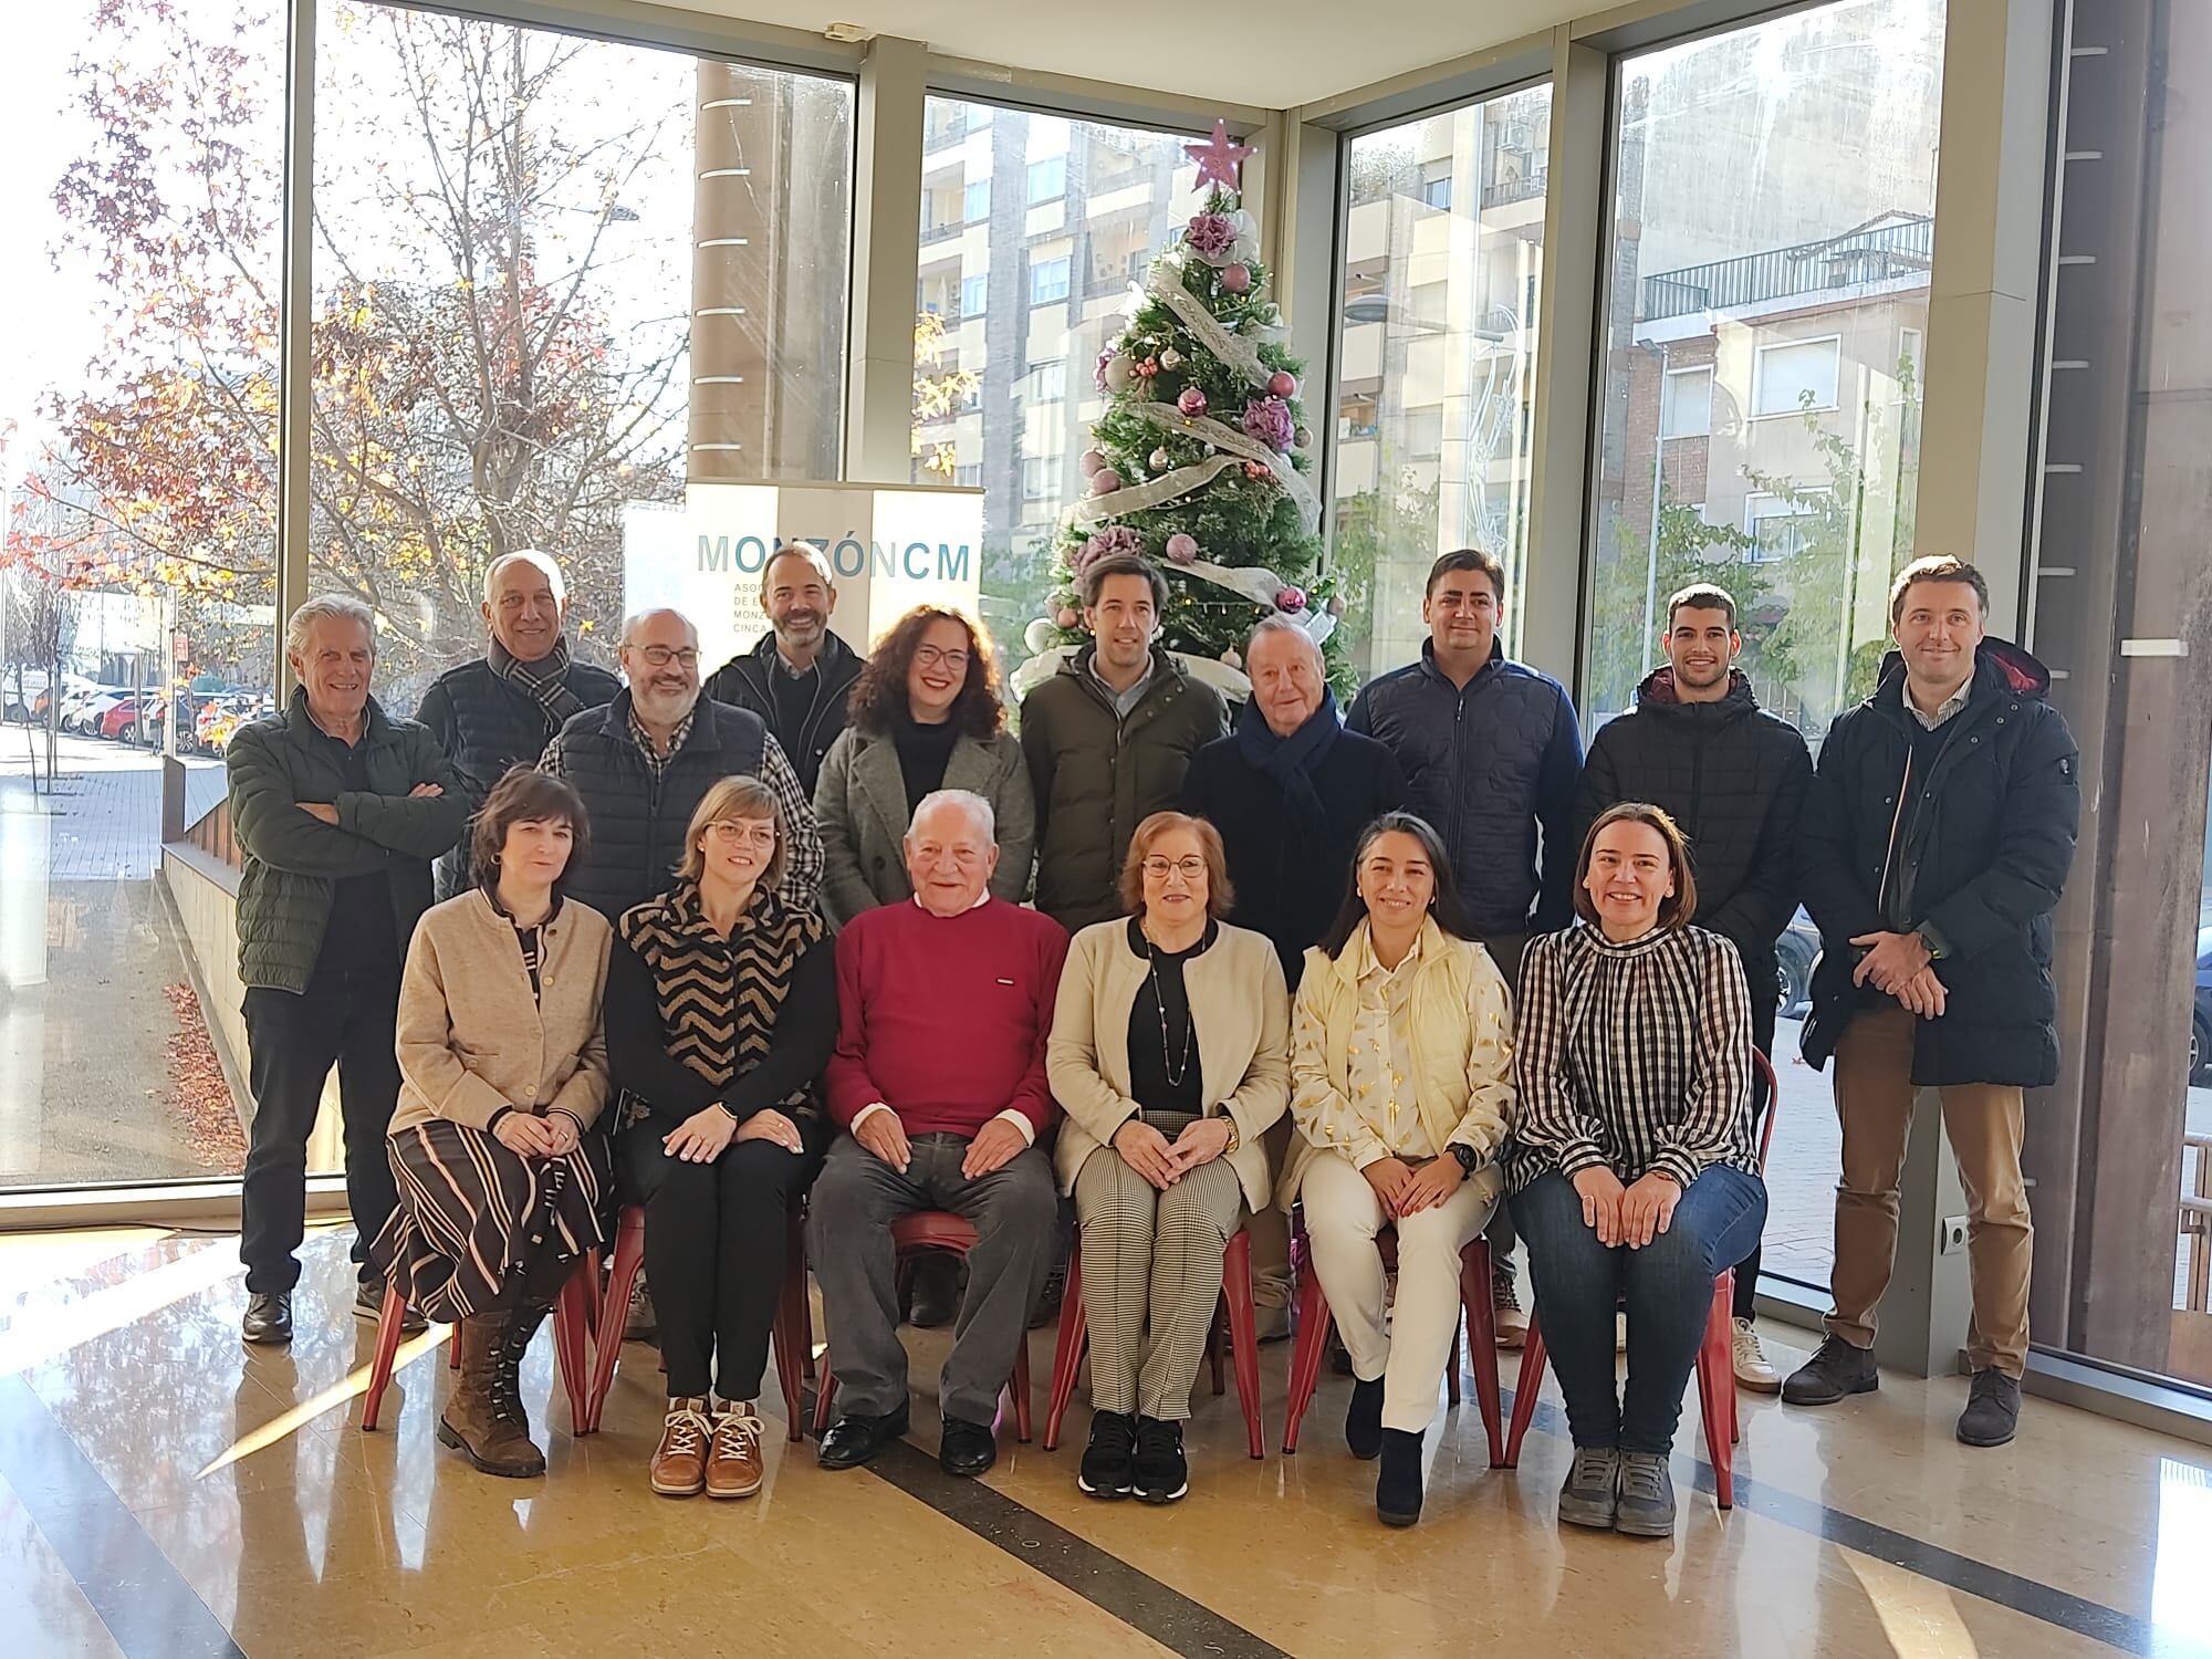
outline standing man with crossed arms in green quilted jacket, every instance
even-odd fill
[[[431,902],[429,860],[469,821],[438,741],[369,697],[376,622],[361,599],[307,599],[285,628],[285,657],[299,681],[290,706],[239,728],[223,757],[230,830],[246,854],[237,925],[254,1097],[239,1190],[248,1343],[292,1340],[307,1135],[332,1066],[361,1263],[354,1312],[383,1310],[367,1252],[398,1203],[385,1130],[400,1093],[400,964]]]

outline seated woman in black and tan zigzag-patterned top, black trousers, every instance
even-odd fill
[[[624,1190],[668,1367],[653,1491],[761,1489],[761,1376],[792,1206],[830,1141],[814,1084],[836,1042],[836,956],[790,909],[774,792],[728,776],[684,832],[677,885],[624,911],[606,1053],[624,1091]]]

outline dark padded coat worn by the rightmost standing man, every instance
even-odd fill
[[[2057,1082],[2051,911],[2073,863],[2081,785],[2048,688],[2028,653],[1984,639],[1973,692],[1944,723],[1924,785],[1907,776],[1918,723],[1896,653],[1874,697],[1829,726],[1803,827],[1805,907],[1820,925],[1809,1064],[1827,1062],[1863,1006],[1851,938],[1931,925],[1947,1004],[1916,1026],[1913,1084]]]

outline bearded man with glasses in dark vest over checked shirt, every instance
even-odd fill
[[[783,902],[812,909],[823,878],[814,807],[759,714],[699,695],[699,630],[679,611],[644,611],[622,624],[615,655],[628,686],[571,719],[540,761],[591,812],[568,898],[619,920],[666,891],[692,810],[710,785],[741,774],[761,779],[783,807]]]

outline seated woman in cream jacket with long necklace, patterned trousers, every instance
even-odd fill
[[[1267,1203],[1261,1135],[1290,1097],[1290,995],[1263,933],[1225,927],[1221,836],[1155,812],[1121,865],[1128,920],[1068,945],[1046,1046],[1066,1113],[1091,1325],[1091,1444],[1077,1486],[1172,1504],[1183,1418],[1221,1296],[1221,1254]]]

